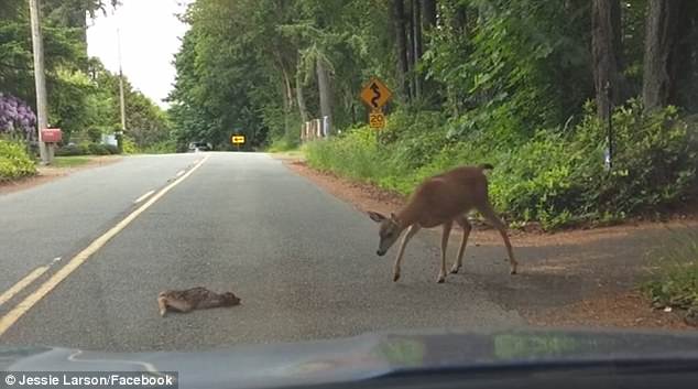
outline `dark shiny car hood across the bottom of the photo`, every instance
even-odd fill
[[[698,335],[656,332],[400,332],[193,353],[0,347],[11,371],[177,371],[181,388],[273,388],[356,381],[417,369],[698,359]]]

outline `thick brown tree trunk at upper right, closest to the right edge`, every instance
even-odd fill
[[[676,66],[672,54],[678,42],[684,0],[650,0],[647,11],[642,99],[652,110],[669,104],[675,88]]]

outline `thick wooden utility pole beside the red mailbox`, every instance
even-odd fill
[[[53,161],[53,147],[44,143],[41,130],[48,127],[48,109],[46,102],[46,75],[44,73],[44,43],[41,35],[40,0],[29,0],[32,24],[32,44],[34,50],[34,82],[36,84],[36,127],[39,133],[39,154],[42,164]]]

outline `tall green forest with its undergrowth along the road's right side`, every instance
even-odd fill
[[[197,0],[183,19],[182,140],[294,147],[328,116],[314,166],[408,193],[491,162],[497,206],[548,228],[695,198],[698,2]],[[371,76],[395,93],[378,134]]]

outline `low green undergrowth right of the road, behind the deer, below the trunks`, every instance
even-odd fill
[[[368,127],[351,129],[309,144],[307,159],[314,168],[402,194],[445,170],[492,163],[495,207],[510,220],[539,221],[547,230],[607,224],[695,196],[697,125],[680,120],[673,107],[647,115],[637,101],[629,101],[612,117],[615,153],[607,172],[607,128],[591,105],[585,108],[576,128],[539,130],[531,137],[506,130],[504,123],[515,121],[503,114],[488,129],[455,132],[454,126],[469,126],[465,117],[444,123],[432,114],[397,112],[378,140]]]

